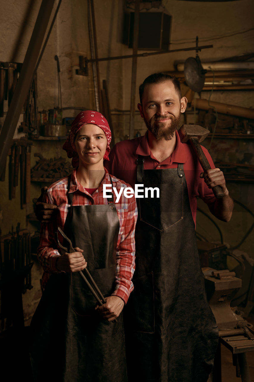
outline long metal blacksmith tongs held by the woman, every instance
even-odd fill
[[[58,241],[58,245],[60,248],[64,249],[66,252],[69,252],[69,253],[73,253],[73,252],[76,252],[75,249],[73,248],[72,246],[72,242],[71,240],[65,235],[65,233],[61,230],[60,227],[57,227],[58,231],[61,233],[61,235],[63,236],[63,238],[65,240],[68,241],[69,243],[69,251],[68,251],[68,248],[67,247],[64,247],[62,246],[62,244],[60,243],[59,241],[59,238],[58,238],[58,232],[56,233],[56,237],[57,237],[57,241]],[[98,285],[95,283],[95,281],[93,280],[92,276],[90,275],[90,272],[88,271],[87,268],[84,269],[87,277],[85,277],[84,273],[82,272],[82,270],[79,271],[79,274],[80,276],[83,278],[83,280],[85,281],[85,283],[87,284],[88,288],[90,289],[90,291],[93,293],[93,295],[95,296],[96,300],[98,301],[98,304],[99,305],[103,305],[106,303],[106,300],[104,299],[104,296],[103,294],[101,293],[100,289],[98,288]],[[89,280],[89,281],[88,281]],[[91,285],[92,284],[92,285]]]

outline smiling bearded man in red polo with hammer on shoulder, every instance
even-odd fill
[[[138,198],[134,291],[125,307],[130,381],[206,382],[217,348],[217,325],[204,290],[196,245],[196,197],[229,221],[233,201],[205,148],[203,173],[191,145],[177,133],[187,99],[177,78],[155,73],[140,85],[138,110],[148,131],[111,151],[109,172],[134,187],[158,187]],[[221,186],[216,199],[211,188]]]

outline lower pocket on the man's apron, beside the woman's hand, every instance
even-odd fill
[[[125,319],[132,330],[154,333],[153,272],[133,281],[134,290],[125,307]]]

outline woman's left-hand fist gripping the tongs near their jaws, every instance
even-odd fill
[[[87,262],[83,256],[83,249],[78,247],[74,248],[76,252],[65,252],[56,260],[56,268],[64,272],[79,272],[87,266]]]

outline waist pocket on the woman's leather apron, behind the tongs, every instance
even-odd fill
[[[83,273],[86,276],[84,271]],[[92,269],[89,270],[89,273],[104,297],[108,297],[113,293],[116,265],[109,268]],[[95,313],[94,309],[97,301],[85,281],[79,275],[79,272],[71,273],[71,302],[72,309],[79,316],[90,316]]]

